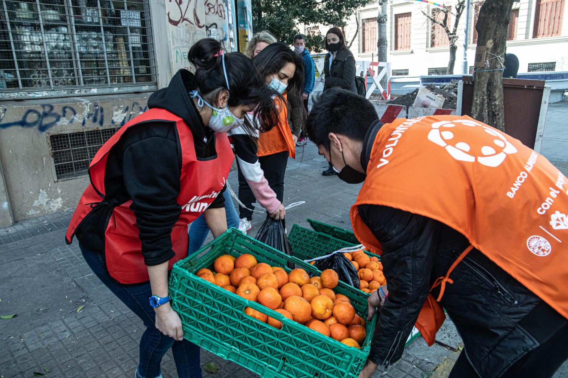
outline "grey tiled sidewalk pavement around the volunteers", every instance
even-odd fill
[[[541,153],[568,170],[567,118],[568,104],[549,106]],[[350,229],[348,210],[361,185],[321,176],[327,163],[313,143],[299,147],[296,156],[287,168],[284,203],[306,203],[289,210],[288,229],[294,223],[310,228],[306,218]],[[228,182],[237,189],[236,172]],[[62,211],[0,230],[0,315],[16,314],[0,320],[0,378],[34,377],[34,372],[66,378],[134,377],[144,326],[91,272],[77,242],[65,244],[71,215],[72,210]],[[250,235],[256,235],[263,220],[264,214],[254,214]],[[451,321],[437,339],[453,349],[461,344]],[[459,353],[440,344],[427,347],[419,337],[389,373],[377,371],[373,377],[445,378]],[[204,377],[257,377],[204,350],[201,363]],[[208,363],[219,372],[208,372]],[[177,377],[171,352],[162,361],[162,375]],[[561,377],[568,377],[568,364],[555,375]]]

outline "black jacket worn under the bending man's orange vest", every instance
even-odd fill
[[[381,123],[367,131],[361,163],[369,163]],[[379,205],[361,205],[363,222],[382,246],[389,296],[373,335],[370,359],[388,368],[404,343],[436,278],[444,276],[469,241],[437,220]],[[440,304],[452,318],[471,365],[497,378],[568,321],[479,250],[456,266]],[[437,298],[440,286],[432,291]]]

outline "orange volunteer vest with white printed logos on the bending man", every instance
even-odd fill
[[[350,215],[357,239],[381,246],[358,206],[439,220],[568,318],[568,179],[517,139],[467,116],[399,118],[379,130]],[[443,294],[454,262],[441,283]],[[416,327],[429,344],[444,313],[429,295]]]

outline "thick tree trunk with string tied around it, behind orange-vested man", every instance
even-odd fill
[[[505,57],[509,12],[513,2],[486,0],[479,10],[475,26],[477,48],[471,117],[502,131],[505,130],[503,66],[496,56]]]

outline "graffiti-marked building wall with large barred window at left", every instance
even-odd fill
[[[77,205],[98,148],[191,69],[236,49],[236,2],[0,0],[0,228]]]

